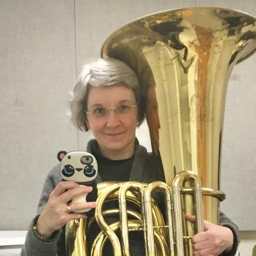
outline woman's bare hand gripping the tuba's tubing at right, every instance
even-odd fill
[[[187,220],[195,222],[195,216],[185,214]],[[193,236],[195,256],[218,256],[222,252],[230,252],[233,246],[233,233],[230,228],[204,221],[204,232]]]

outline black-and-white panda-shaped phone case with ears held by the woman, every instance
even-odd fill
[[[92,192],[74,196],[72,203],[94,202],[97,199],[98,190],[95,180],[98,173],[98,165],[95,157],[84,151],[58,152],[60,161],[60,174],[63,180],[72,180],[84,186],[92,186]],[[93,216],[95,209],[82,209],[76,212],[86,213]]]

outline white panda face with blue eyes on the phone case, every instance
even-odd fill
[[[63,180],[89,182],[97,176],[98,166],[95,157],[87,152],[59,152],[60,173]]]

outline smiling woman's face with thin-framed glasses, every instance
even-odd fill
[[[91,87],[88,95],[86,124],[99,143],[100,151],[109,159],[126,159],[134,152],[138,108],[134,92],[122,84],[109,87]],[[132,106],[129,111],[118,113],[118,109]],[[100,116],[102,109],[110,109]],[[94,113],[94,114],[92,114]],[[95,115],[97,113],[97,115]]]

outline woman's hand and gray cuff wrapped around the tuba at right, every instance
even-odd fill
[[[186,214],[186,219],[195,222],[195,216]],[[220,216],[220,225],[204,221],[204,232],[196,234],[192,239],[195,255],[235,255],[238,230],[234,230],[237,230],[236,225],[223,213]]]

